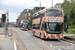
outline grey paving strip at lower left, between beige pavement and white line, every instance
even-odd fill
[[[7,40],[4,42],[1,50],[14,50],[14,42],[11,41],[11,37],[7,37]]]

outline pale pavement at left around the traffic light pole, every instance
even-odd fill
[[[0,50],[14,50],[14,42],[11,41],[11,31],[9,30],[9,34],[5,38],[5,30],[4,28],[0,28]]]

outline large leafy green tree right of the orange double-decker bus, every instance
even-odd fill
[[[65,1],[62,4],[64,14],[67,16],[67,24],[75,25],[75,1],[69,3]]]

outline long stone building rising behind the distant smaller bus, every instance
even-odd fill
[[[22,20],[28,20],[30,21],[30,15],[32,14],[31,9],[25,9],[23,12],[19,15],[18,19],[16,19],[16,24],[20,24]]]

